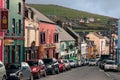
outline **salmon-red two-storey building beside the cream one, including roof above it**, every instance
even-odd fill
[[[56,25],[43,14],[39,13],[39,57],[55,57]]]

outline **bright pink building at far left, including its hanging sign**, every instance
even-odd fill
[[[4,0],[0,0],[0,60],[1,61],[4,61],[4,54],[3,54],[4,31],[6,31],[8,27],[8,10],[4,5],[5,5]],[[6,26],[6,28],[4,28],[4,26]]]

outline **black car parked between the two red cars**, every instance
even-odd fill
[[[59,63],[55,58],[42,59],[46,65],[46,72],[49,74],[59,73]]]

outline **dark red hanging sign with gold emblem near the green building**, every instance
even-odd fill
[[[0,29],[1,30],[8,29],[8,10],[0,11]]]

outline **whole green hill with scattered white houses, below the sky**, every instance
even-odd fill
[[[92,14],[84,11],[78,11],[58,5],[43,4],[27,4],[31,6],[53,21],[62,21],[65,25],[72,27],[75,31],[80,30],[107,30],[109,28],[108,21],[112,24],[116,22],[116,18]]]

